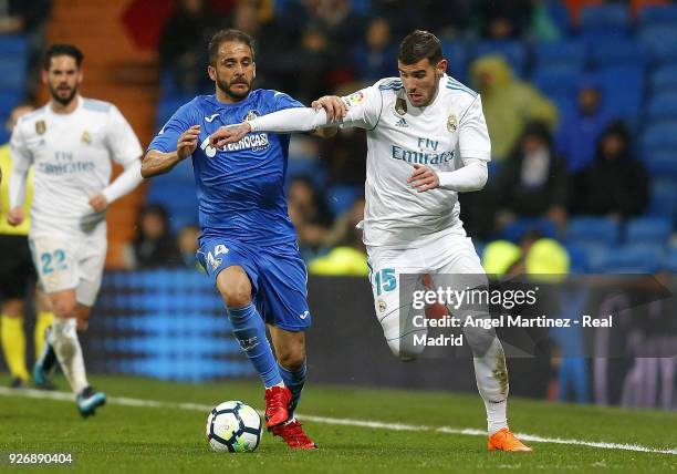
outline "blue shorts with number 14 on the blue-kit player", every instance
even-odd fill
[[[197,258],[215,286],[221,270],[242,267],[265,322],[288,331],[310,328],[308,272],[295,241],[263,247],[227,237],[202,237]]]

